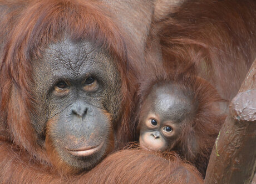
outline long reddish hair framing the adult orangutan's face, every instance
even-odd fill
[[[117,140],[120,144],[131,140],[129,120],[134,86],[129,85],[129,79],[133,75],[127,70],[125,39],[107,7],[95,1],[38,0],[24,3],[22,11],[14,12],[8,14],[17,20],[9,27],[0,62],[1,116],[11,140],[31,154],[38,152],[37,137],[30,123],[35,103],[30,87],[32,59],[42,57],[47,45],[57,42],[63,34],[72,40],[89,40],[114,57],[122,81],[122,106],[119,117],[114,119]]]

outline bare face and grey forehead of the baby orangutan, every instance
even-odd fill
[[[166,151],[177,144],[185,120],[193,116],[193,94],[184,86],[155,84],[142,104],[140,145],[152,151]]]

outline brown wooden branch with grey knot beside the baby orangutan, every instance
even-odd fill
[[[251,183],[256,167],[256,59],[232,100],[204,183]]]

